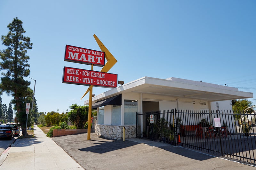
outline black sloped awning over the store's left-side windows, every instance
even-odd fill
[[[106,105],[122,105],[122,94],[98,101],[92,104],[92,109],[96,109],[98,107]]]

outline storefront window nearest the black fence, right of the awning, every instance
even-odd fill
[[[136,124],[137,100],[124,100],[124,124]]]

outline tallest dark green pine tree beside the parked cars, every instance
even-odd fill
[[[26,55],[27,49],[32,49],[30,38],[23,36],[25,30],[22,26],[22,21],[17,17],[12,23],[7,25],[9,32],[6,36],[1,37],[2,44],[7,46],[7,49],[0,51],[2,62],[0,70],[5,70],[2,73],[0,92],[6,92],[7,95],[12,95],[14,108],[17,111],[16,116],[21,124],[22,134],[26,133],[26,97],[32,96],[33,90],[28,87],[29,81],[25,81],[23,77],[29,75],[29,56]],[[31,118],[31,116],[28,116]],[[30,120],[28,119],[28,122]]]

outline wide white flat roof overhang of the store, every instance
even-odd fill
[[[174,77],[168,79],[142,77],[97,95],[92,98],[92,101],[101,101],[122,93],[170,96],[175,97],[176,99],[200,99],[211,102],[253,98],[253,93],[238,91],[237,88],[228,86],[221,86],[217,84],[185,80]],[[88,103],[89,100],[84,101],[84,104]]]

